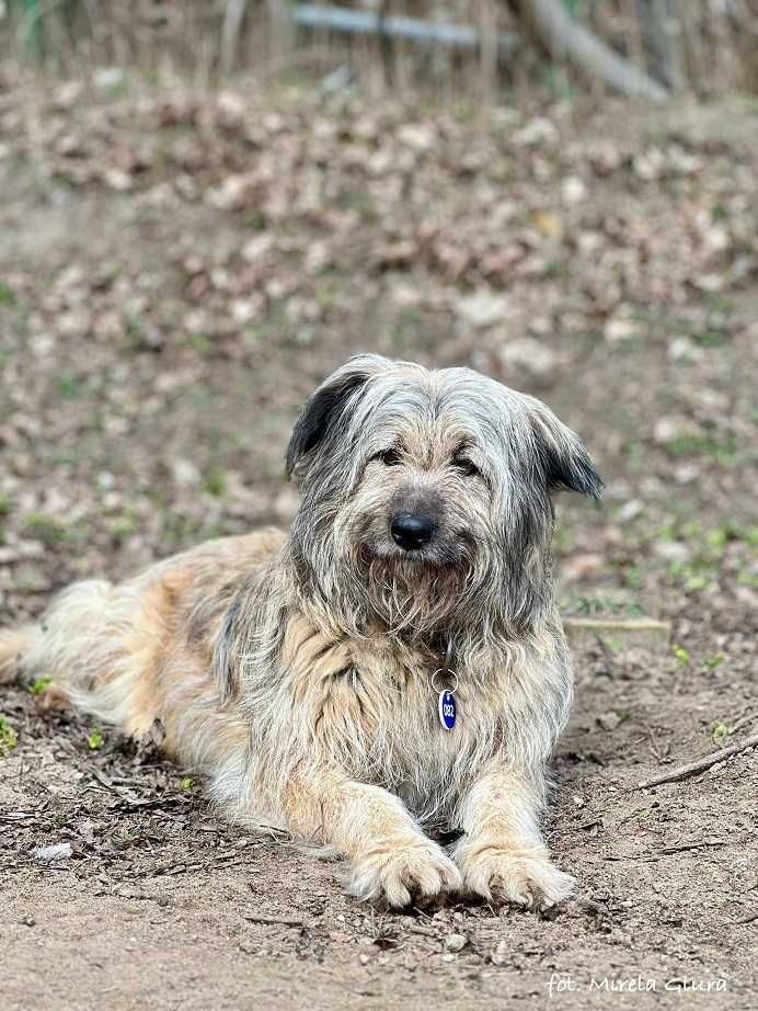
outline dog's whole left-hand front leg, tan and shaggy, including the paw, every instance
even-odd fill
[[[322,834],[351,860],[348,888],[358,898],[402,908],[460,887],[455,863],[379,786],[317,770],[290,784],[287,815],[295,832]]]

